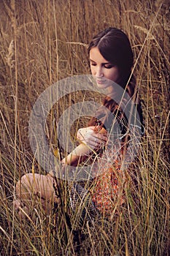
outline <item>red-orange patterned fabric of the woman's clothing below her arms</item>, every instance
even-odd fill
[[[120,159],[106,162],[103,159],[98,161],[101,175],[94,179],[93,188],[90,189],[92,200],[101,213],[110,215],[115,209],[115,204],[122,205],[125,202],[123,186],[125,176],[120,170]]]

